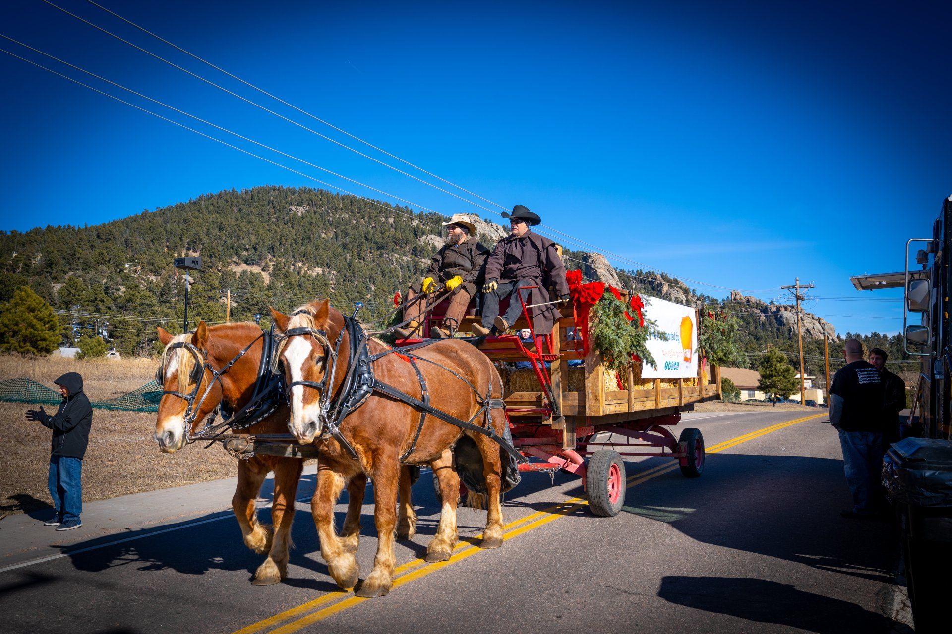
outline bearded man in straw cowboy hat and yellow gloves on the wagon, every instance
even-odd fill
[[[410,286],[407,291],[409,305],[404,311],[404,319],[409,319],[410,322],[406,328],[397,330],[397,334],[405,338],[413,336],[420,329],[424,301],[421,299],[409,303],[409,300],[421,291],[432,293],[442,282],[451,292],[449,308],[443,318],[444,328],[433,328],[431,331],[433,336],[442,338],[452,336],[459,328],[460,319],[466,315],[469,300],[476,295],[476,289],[483,283],[489,249],[476,240],[476,225],[466,214],[454,214],[443,224],[448,232],[446,244],[433,256],[423,283],[416,288]]]

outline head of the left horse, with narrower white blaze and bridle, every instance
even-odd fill
[[[188,436],[221,402],[222,386],[211,374],[205,321],[198,324],[194,333],[185,335],[172,336],[163,328],[156,330],[166,348],[162,365],[155,373],[163,390],[155,421],[155,442],[161,451],[172,453],[188,444]]]

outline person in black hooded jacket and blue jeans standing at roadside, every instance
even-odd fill
[[[53,381],[59,386],[63,402],[54,414],[39,410],[27,412],[27,420],[38,420],[53,431],[50,442],[50,497],[55,515],[45,526],[70,530],[83,526],[83,457],[89,445],[92,406],[83,393],[83,377],[75,372]]]

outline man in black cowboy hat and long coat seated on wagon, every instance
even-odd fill
[[[522,303],[516,295],[518,289],[526,286],[537,288],[519,291],[526,305],[541,304],[549,300],[549,287],[555,288],[556,295],[568,300],[568,282],[565,281],[565,266],[555,248],[555,242],[534,234],[529,226],[542,222],[537,215],[525,206],[517,204],[511,214],[503,214],[509,219],[509,235],[496,243],[489,258],[486,259],[486,285],[483,292],[483,322],[473,324],[477,335],[489,335],[495,328],[497,333],[505,333],[522,313]],[[509,307],[505,315],[499,314],[499,301],[509,298]],[[548,334],[552,324],[558,318],[553,304],[529,309],[533,327],[537,333]]]

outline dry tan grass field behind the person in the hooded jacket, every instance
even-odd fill
[[[0,356],[0,380],[28,376],[50,388],[68,372],[83,375],[90,400],[111,398],[138,388],[155,373],[157,361],[29,359]],[[46,406],[50,411],[50,406]],[[47,471],[50,430],[24,418],[26,403],[0,403],[0,512],[50,508]],[[93,410],[89,450],[83,461],[83,499],[101,500],[146,490],[165,489],[217,478],[237,471],[221,446],[191,445],[160,453],[152,439],[154,413]]]

